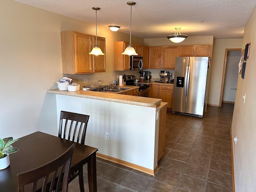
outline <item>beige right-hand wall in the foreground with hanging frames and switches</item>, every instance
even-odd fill
[[[232,121],[232,146],[236,192],[256,189],[256,7],[244,29],[244,45],[251,43],[244,79],[238,75]],[[245,102],[243,96],[246,94]],[[234,137],[237,136],[236,145]]]

